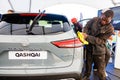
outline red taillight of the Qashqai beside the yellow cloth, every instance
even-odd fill
[[[83,46],[83,44],[80,42],[78,38],[54,41],[52,42],[52,44],[59,48],[78,48]]]

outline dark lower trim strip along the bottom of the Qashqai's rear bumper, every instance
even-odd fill
[[[0,76],[0,80],[56,80],[56,79],[67,79],[74,78],[81,80],[81,74],[76,73],[60,73],[50,75],[29,75],[29,76]]]

